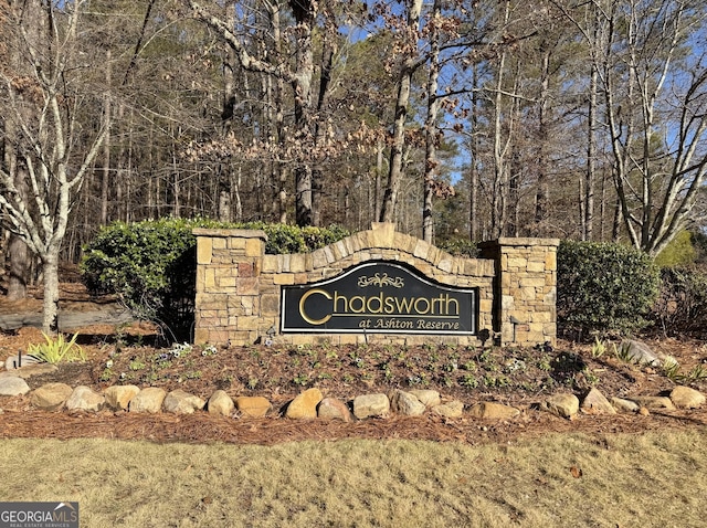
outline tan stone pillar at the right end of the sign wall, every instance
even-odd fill
[[[559,244],[510,237],[479,244],[482,256],[496,262],[494,332],[500,345],[555,345]]]

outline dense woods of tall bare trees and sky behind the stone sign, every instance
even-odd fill
[[[707,1],[0,0],[10,296],[102,225],[704,233]],[[55,317],[54,317],[55,320]]]

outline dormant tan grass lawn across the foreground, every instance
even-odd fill
[[[0,461],[1,500],[77,500],[83,527],[707,522],[704,427],[481,446],[3,440]]]

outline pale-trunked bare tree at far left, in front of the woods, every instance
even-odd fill
[[[12,175],[0,168],[2,222],[42,262],[45,332],[55,332],[59,326],[59,256],[72,201],[105,134],[101,123],[91,129],[77,120],[78,107],[88,99],[101,107],[99,95],[82,93],[76,76],[84,67],[75,47],[83,4],[59,9],[41,0],[13,2],[14,42],[21,45],[18,52],[30,68],[29,74],[0,73],[8,96],[4,118],[17,130],[4,140],[11,141],[9,148],[18,152],[18,163],[24,169]],[[78,148],[81,154],[75,151]],[[30,192],[24,193],[22,184]]]

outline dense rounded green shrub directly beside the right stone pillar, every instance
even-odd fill
[[[562,242],[558,250],[557,314],[563,331],[632,332],[645,327],[658,294],[650,256],[633,247]]]

